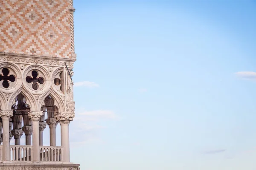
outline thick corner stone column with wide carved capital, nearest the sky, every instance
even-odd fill
[[[63,161],[70,162],[69,124],[75,117],[75,113],[58,113],[55,118],[61,125],[61,146],[64,149]]]

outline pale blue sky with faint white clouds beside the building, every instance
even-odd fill
[[[256,1],[74,7],[71,161],[82,170],[256,168]]]

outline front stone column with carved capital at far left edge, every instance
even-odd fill
[[[3,161],[10,161],[9,121],[13,111],[0,111],[3,123]]]

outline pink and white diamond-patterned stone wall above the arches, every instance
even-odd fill
[[[0,0],[0,52],[71,58],[72,0]],[[71,22],[71,23],[70,23]]]

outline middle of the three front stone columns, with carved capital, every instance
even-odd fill
[[[29,118],[32,120],[33,129],[33,158],[32,161],[40,161],[39,150],[39,120],[43,115],[42,111],[30,111]]]

